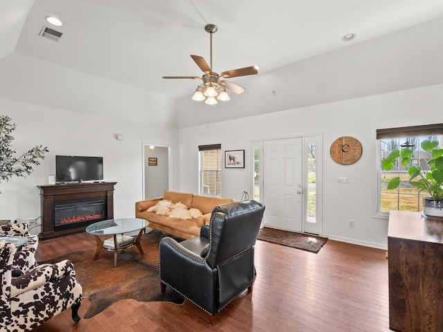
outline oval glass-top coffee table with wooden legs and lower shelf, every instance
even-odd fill
[[[140,218],[109,219],[92,223],[86,228],[86,231],[96,238],[97,251],[94,260],[98,259],[102,248],[114,251],[114,267],[117,267],[118,252],[123,249],[136,246],[141,255],[145,255],[143,248],[141,248],[140,240],[143,230],[149,224],[149,221]],[[125,233],[136,232],[137,230],[139,232],[136,238],[125,235]],[[113,237],[102,241],[100,235],[112,235]]]

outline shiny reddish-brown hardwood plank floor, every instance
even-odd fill
[[[96,250],[96,241],[86,233],[40,241],[37,260],[85,249]],[[71,310],[64,311],[35,332],[390,331],[385,250],[329,240],[314,254],[257,241],[255,266],[253,294],[242,293],[215,316],[213,326],[188,302],[125,299],[77,325]],[[88,307],[89,300],[83,299],[80,317]]]

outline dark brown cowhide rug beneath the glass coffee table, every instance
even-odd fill
[[[159,282],[159,242],[166,234],[152,230],[143,234],[141,255],[134,246],[118,253],[118,266],[114,268],[114,252],[102,250],[93,260],[95,250],[71,252],[42,263],[54,263],[62,259],[73,262],[83,297],[91,300],[84,318],[90,318],[120,299],[136,299],[141,302],[167,301],[183,304],[183,297],[167,287],[164,294]]]

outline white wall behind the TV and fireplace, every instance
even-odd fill
[[[135,202],[143,198],[143,142],[161,142],[172,147],[173,153],[177,151],[176,129],[10,100],[0,99],[0,109],[2,115],[10,116],[17,124],[12,133],[17,156],[35,145],[49,149],[33,174],[0,183],[0,219],[28,220],[40,216],[37,185],[47,185],[48,175],[55,174],[57,154],[103,156],[104,180],[117,182],[114,216],[134,216]],[[125,140],[116,140],[118,133]]]

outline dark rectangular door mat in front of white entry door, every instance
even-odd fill
[[[262,228],[258,232],[257,239],[315,253],[320,251],[327,241],[326,237],[276,230],[269,227]]]

